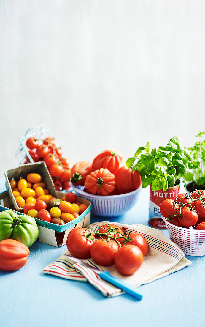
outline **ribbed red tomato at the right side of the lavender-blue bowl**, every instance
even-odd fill
[[[127,166],[122,166],[115,172],[115,181],[115,194],[132,192],[142,184],[140,174],[136,170],[133,174]]]

